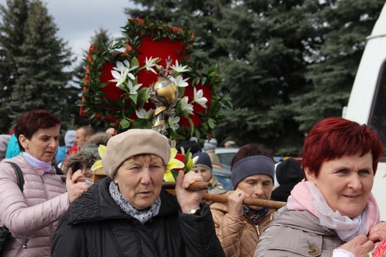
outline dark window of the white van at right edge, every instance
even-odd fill
[[[376,131],[384,147],[383,160],[386,160],[386,64],[381,68],[380,79],[375,89],[369,124]]]

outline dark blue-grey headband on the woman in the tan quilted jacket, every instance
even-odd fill
[[[232,186],[236,189],[238,183],[252,175],[268,175],[274,180],[275,163],[267,156],[250,156],[236,162],[232,168]]]

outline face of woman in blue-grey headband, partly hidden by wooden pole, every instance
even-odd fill
[[[236,189],[241,189],[250,197],[262,200],[269,200],[272,194],[273,182],[272,178],[268,175],[256,174],[241,180]],[[260,210],[263,207],[259,206],[247,206],[252,210]]]

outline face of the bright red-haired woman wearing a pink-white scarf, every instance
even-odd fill
[[[305,168],[307,179],[318,187],[329,207],[350,218],[364,209],[374,182],[373,156],[343,156],[324,161],[318,178]]]

